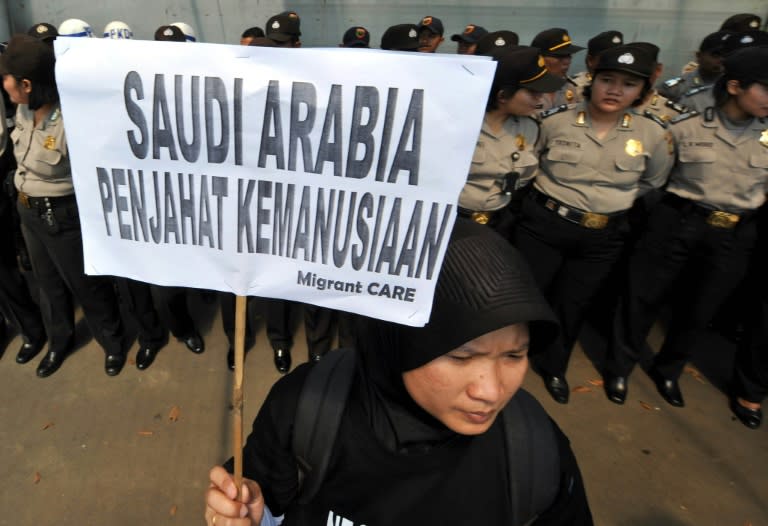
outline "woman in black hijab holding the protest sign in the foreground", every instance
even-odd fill
[[[284,525],[592,524],[567,438],[519,392],[528,353],[557,325],[509,243],[459,218],[430,322],[361,325],[357,367],[320,489],[308,502],[299,499],[294,415],[314,367],[302,365],[275,384],[254,421],[239,501],[229,473],[211,470],[207,524],[276,524],[279,515]],[[509,438],[510,428],[527,425],[505,420],[516,393],[527,417],[544,422],[540,436]],[[552,461],[550,476],[532,470],[516,489],[532,495],[543,479],[547,499],[533,522],[516,521],[514,503],[527,501],[512,496],[505,459],[532,457]]]

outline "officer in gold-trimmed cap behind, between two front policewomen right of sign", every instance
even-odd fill
[[[568,76],[568,69],[571,67],[573,54],[584,48],[575,45],[568,31],[560,27],[553,27],[540,32],[533,38],[531,46],[541,50],[550,72],[565,79],[562,88],[544,97],[542,109],[548,110],[562,104],[574,104],[581,101],[582,95],[579,93],[574,80]]]

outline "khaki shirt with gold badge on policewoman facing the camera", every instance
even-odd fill
[[[664,127],[631,110],[598,139],[586,102],[541,123],[534,187],[573,208],[610,214],[662,186],[674,159]]]

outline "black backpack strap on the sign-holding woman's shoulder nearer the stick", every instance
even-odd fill
[[[323,483],[354,372],[354,350],[338,349],[307,374],[293,424],[293,452],[303,478],[300,504],[312,500]]]

